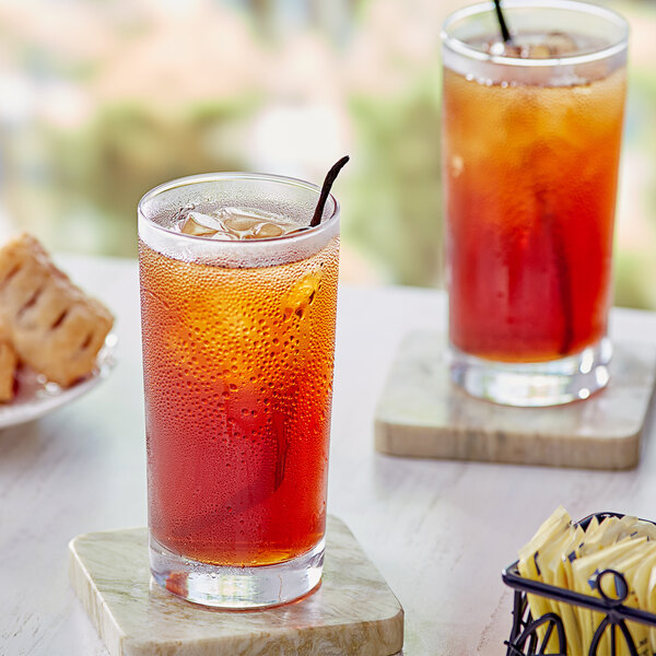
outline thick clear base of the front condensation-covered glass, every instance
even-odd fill
[[[266,608],[298,599],[321,579],[323,539],[303,555],[258,567],[211,565],[168,551],[150,536],[153,578],[168,591],[204,606],[232,610]]]

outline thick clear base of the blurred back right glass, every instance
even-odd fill
[[[507,363],[482,360],[450,347],[450,377],[470,395],[504,406],[560,406],[587,399],[606,387],[612,345],[594,347],[561,360]]]

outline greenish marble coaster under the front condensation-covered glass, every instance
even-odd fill
[[[403,610],[355,538],[328,517],[323,583],[308,597],[234,612],[184,601],[151,581],[148,531],[71,540],[70,576],[112,656],[390,656]]]

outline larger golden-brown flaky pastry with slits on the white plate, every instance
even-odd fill
[[[69,387],[93,371],[112,324],[34,237],[0,248],[0,326],[23,363]]]

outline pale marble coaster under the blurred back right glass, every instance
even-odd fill
[[[476,399],[448,377],[445,337],[401,344],[375,414],[375,446],[424,458],[629,469],[654,398],[656,351],[613,342],[608,387],[585,401],[511,408]]]

